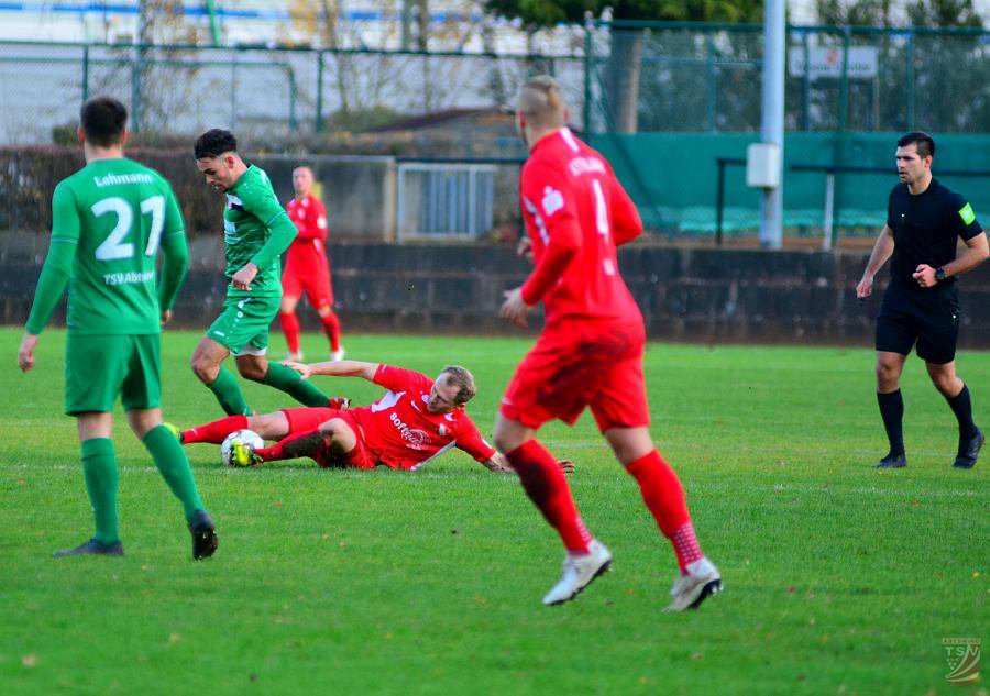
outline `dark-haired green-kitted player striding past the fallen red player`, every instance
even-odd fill
[[[229,416],[251,416],[237,379],[221,363],[233,353],[241,376],[280,389],[305,406],[327,407],[326,394],[299,374],[270,363],[268,327],[282,305],[279,256],[296,237],[296,225],[264,170],[246,165],[233,133],[207,131],[194,147],[196,165],[215,190],[227,194],[227,299],[223,311],[193,353],[193,372]]]

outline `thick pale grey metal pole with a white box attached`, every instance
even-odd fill
[[[767,0],[763,9],[763,99],[760,135],[780,147],[783,163],[784,117],[784,0]],[[780,186],[763,189],[760,201],[760,246],[783,244],[783,177]]]

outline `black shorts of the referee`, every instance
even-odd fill
[[[926,363],[950,363],[956,358],[960,314],[955,283],[915,290],[893,280],[877,316],[877,350],[908,355],[917,342],[917,356]]]

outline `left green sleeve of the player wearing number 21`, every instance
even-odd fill
[[[73,275],[78,242],[79,213],[76,210],[76,198],[69,188],[59,185],[55,187],[55,195],[52,197],[52,243],[37,279],[34,303],[28,316],[28,333],[41,333],[52,318]]]

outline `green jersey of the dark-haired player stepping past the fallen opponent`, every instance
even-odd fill
[[[228,281],[249,262],[257,266],[251,289],[239,290],[228,283],[228,297],[280,297],[279,256],[297,230],[263,169],[249,166],[227,192],[223,232]]]

